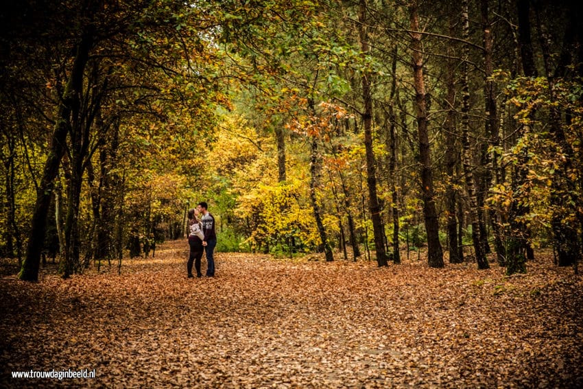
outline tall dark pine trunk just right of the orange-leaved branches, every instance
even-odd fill
[[[364,55],[367,55],[369,50],[366,8],[366,0],[361,0],[359,10],[359,36],[361,51]],[[366,184],[368,186],[368,202],[372,220],[372,231],[374,233],[374,250],[377,253],[377,264],[378,266],[388,266],[385,250],[385,226],[381,218],[381,207],[377,196],[376,161],[374,159],[374,152],[372,151],[372,93],[370,91],[369,76],[370,74],[367,71],[362,72],[362,97],[364,99],[362,120],[364,124],[364,149],[366,153]]]

